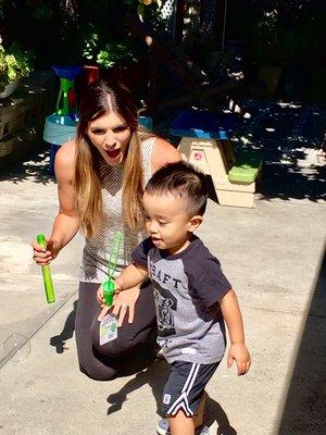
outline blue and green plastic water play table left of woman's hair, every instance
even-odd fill
[[[49,172],[53,175],[55,153],[61,145],[76,134],[77,107],[74,80],[82,66],[52,66],[60,78],[55,113],[46,117],[43,139],[51,146]]]

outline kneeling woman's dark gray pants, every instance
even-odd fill
[[[80,371],[98,381],[137,373],[155,358],[158,334],[151,284],[141,287],[134,322],[128,323],[126,316],[117,338],[103,346],[99,345],[98,288],[96,283],[79,283],[75,336]]]

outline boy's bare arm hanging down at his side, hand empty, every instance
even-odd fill
[[[244,346],[244,332],[242,315],[240,312],[237,295],[230,289],[221,301],[221,311],[227,325],[230,339],[230,348],[228,351],[227,366],[233,365],[236,360],[238,366],[238,375],[246,374],[250,368],[250,355]]]

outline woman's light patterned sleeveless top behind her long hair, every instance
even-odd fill
[[[145,183],[151,176],[151,157],[156,138],[143,140],[141,146],[142,171]],[[102,179],[103,221],[99,231],[91,238],[86,238],[79,281],[85,283],[102,283],[108,277],[110,247],[115,232],[123,235],[121,256],[116,264],[116,275],[131,260],[131,251],[146,238],[146,229],[134,232],[123,222],[122,186],[124,164],[110,166],[104,161],[100,165]]]

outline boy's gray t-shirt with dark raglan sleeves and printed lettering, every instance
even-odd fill
[[[166,360],[201,364],[221,361],[226,338],[216,302],[231,286],[218,260],[198,237],[177,254],[159,250],[147,238],[131,257],[133,262],[148,269],[153,283],[158,343]]]

